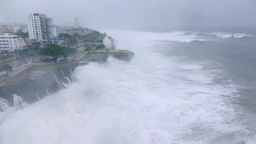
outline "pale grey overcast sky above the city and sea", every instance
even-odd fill
[[[256,26],[255,0],[0,0],[0,22],[26,23],[43,13],[57,25],[89,28]]]

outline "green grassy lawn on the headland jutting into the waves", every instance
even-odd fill
[[[123,52],[90,52],[87,55],[85,55],[83,58],[81,58],[80,61],[88,60],[90,58],[106,58],[110,55],[122,56],[122,55],[126,55],[126,53],[123,53]]]

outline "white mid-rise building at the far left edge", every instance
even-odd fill
[[[19,49],[18,36],[9,33],[0,35],[0,51],[2,53],[11,53]]]

